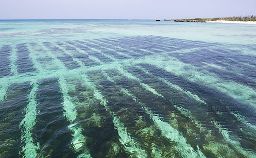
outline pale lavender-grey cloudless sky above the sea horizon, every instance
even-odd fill
[[[256,15],[256,0],[0,0],[0,19],[175,19]]]

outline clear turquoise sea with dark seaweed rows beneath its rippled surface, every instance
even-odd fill
[[[256,25],[0,20],[0,157],[256,157]]]

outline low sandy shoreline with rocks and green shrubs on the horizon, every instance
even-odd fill
[[[157,19],[156,21],[160,21]],[[226,23],[255,23],[256,24],[256,16],[238,16],[238,17],[225,17],[225,18],[194,18],[194,19],[164,19],[164,21],[176,21],[176,22],[226,22]]]

